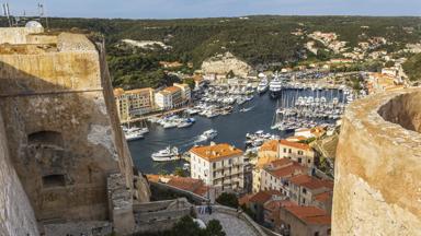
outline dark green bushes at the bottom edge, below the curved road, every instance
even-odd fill
[[[134,236],[225,236],[219,221],[210,220],[202,229],[190,216],[184,216],[171,229],[158,233],[136,234]]]

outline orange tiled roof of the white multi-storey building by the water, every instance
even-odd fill
[[[194,146],[190,152],[207,161],[218,161],[226,157],[241,155],[242,151],[229,145],[228,143],[219,143],[207,146]]]

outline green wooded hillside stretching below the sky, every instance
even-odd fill
[[[0,25],[5,25],[0,19]],[[204,59],[224,51],[231,51],[250,64],[276,68],[314,57],[304,49],[305,36],[293,35],[300,30],[334,32],[340,40],[353,48],[359,42],[373,36],[385,37],[394,44],[386,50],[403,48],[407,43],[421,38],[421,17],[366,17],[366,16],[249,16],[192,19],[192,20],[123,20],[123,19],[50,19],[52,28],[98,32],[105,36],[113,84],[128,87],[170,84],[174,76],[167,76],[158,61],[192,62],[200,68]],[[122,39],[157,40],[169,48],[140,49],[122,44]],[[325,51],[315,60],[333,57]]]

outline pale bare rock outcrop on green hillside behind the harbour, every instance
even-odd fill
[[[232,71],[238,76],[247,76],[251,67],[242,60],[236,58],[232,54],[226,52],[212,57],[202,63],[202,71],[205,74],[227,74]]]

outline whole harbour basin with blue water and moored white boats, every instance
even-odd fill
[[[250,90],[257,88],[251,87]],[[296,126],[292,129],[273,129],[275,114],[286,115],[292,113],[291,110],[297,110],[298,108],[303,108],[304,110],[304,108],[307,107],[307,101],[311,101],[309,97],[315,97],[314,99],[319,97],[319,103],[326,104],[326,106],[315,105],[312,107],[326,107],[325,111],[330,110],[329,106],[333,104],[334,101],[338,101],[338,106],[341,105],[341,107],[345,106],[344,102],[346,101],[346,95],[342,90],[328,88],[283,88],[278,99],[273,99],[270,93],[260,96],[258,94],[246,95],[248,90],[243,90],[243,94],[229,94],[216,98],[214,93],[209,91],[218,90],[209,88],[207,95],[203,96],[203,98],[196,103],[196,106],[186,109],[180,115],[149,119],[148,126],[150,132],[145,134],[145,139],[128,143],[135,165],[140,170],[144,173],[158,174],[163,172],[172,173],[177,167],[186,168],[186,165],[184,165],[186,162],[183,160],[153,162],[151,155],[160,150],[167,149],[169,145],[177,146],[180,155],[194,145],[209,144],[210,141],[216,143],[230,143],[243,151],[246,151],[247,146],[250,152],[255,152],[264,140],[286,138],[294,132],[294,128],[306,127]],[[229,99],[232,96],[236,98],[235,102]],[[249,97],[248,101],[247,97]],[[322,97],[326,98],[326,103]],[[306,103],[303,101],[306,101]],[[308,104],[308,107],[311,107],[311,103]],[[298,116],[297,113],[294,115],[294,119],[315,121],[306,121],[299,125],[316,126],[320,123],[333,123],[335,120],[329,119],[329,116],[327,118],[307,118],[304,113],[301,113],[301,115],[303,116]],[[340,116],[340,114],[338,114],[338,116]],[[292,117],[289,118],[288,121],[292,122],[293,119]],[[186,122],[187,119],[193,120],[194,125],[192,122],[192,125],[184,128],[178,125]],[[205,132],[210,132],[210,130],[216,131],[216,135],[205,134]]]

